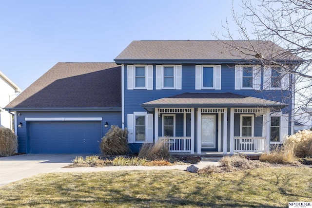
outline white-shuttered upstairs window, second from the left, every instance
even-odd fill
[[[164,89],[182,89],[182,65],[156,65],[156,90]]]

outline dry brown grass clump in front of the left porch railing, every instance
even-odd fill
[[[163,142],[158,141],[155,144],[144,143],[138,152],[138,157],[145,158],[149,161],[161,159],[169,160],[171,155]]]

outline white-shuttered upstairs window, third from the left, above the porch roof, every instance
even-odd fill
[[[196,65],[195,90],[221,90],[221,65]]]

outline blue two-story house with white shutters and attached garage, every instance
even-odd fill
[[[128,128],[133,152],[159,140],[183,154],[269,151],[293,132],[292,76],[228,43],[133,41],[116,63],[58,63],[6,107],[19,151],[97,153],[111,125]]]

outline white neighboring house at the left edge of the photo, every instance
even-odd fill
[[[14,129],[12,114],[3,108],[19,95],[20,92],[21,89],[0,71],[0,127]]]

